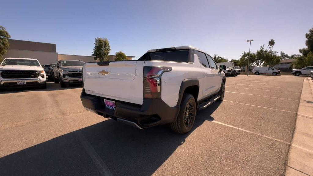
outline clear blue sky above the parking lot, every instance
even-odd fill
[[[275,51],[298,54],[313,27],[312,0],[3,1],[0,25],[11,39],[54,43],[59,54],[91,55],[96,37],[110,54],[138,59],[149,49],[195,46],[239,59],[275,39]]]

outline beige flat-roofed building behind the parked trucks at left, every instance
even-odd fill
[[[57,63],[58,60],[81,60],[84,62],[95,62],[93,56],[81,56],[70,54],[58,54],[55,44],[31,42],[24,40],[9,39],[9,49],[3,58],[33,58],[37,59],[41,65]],[[127,60],[132,60],[135,56],[127,56]],[[109,61],[115,60],[115,55],[108,56]]]

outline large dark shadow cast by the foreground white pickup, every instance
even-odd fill
[[[214,120],[211,114],[219,104],[197,112],[192,131],[185,135],[168,125],[138,130],[105,120],[0,158],[0,175],[101,175],[90,148],[113,175],[151,175],[193,130]],[[90,148],[82,145],[86,141]]]

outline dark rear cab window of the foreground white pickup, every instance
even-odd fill
[[[164,51],[146,53],[138,60],[162,60],[172,62],[188,62],[189,50]]]

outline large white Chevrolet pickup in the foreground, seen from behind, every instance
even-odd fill
[[[86,63],[80,98],[106,118],[140,129],[169,123],[184,134],[197,110],[223,101],[225,69],[194,47],[151,49],[138,60]]]

